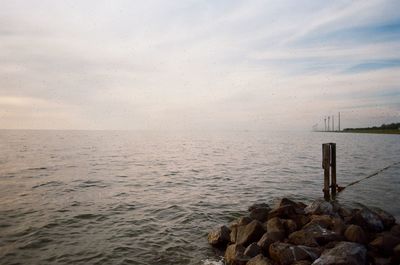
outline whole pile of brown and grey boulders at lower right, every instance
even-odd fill
[[[400,225],[381,209],[281,199],[208,234],[230,265],[400,264]]]

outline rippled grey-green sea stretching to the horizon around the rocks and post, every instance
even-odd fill
[[[338,184],[364,179],[337,200],[399,220],[399,135],[0,130],[0,264],[223,264],[208,232],[321,198],[328,142]]]

